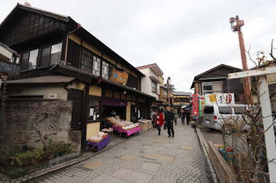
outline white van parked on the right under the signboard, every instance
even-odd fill
[[[236,123],[244,131],[250,128],[246,124],[248,116],[242,114],[246,110],[246,105],[206,105],[204,107],[203,125],[210,129],[221,130],[224,122]]]

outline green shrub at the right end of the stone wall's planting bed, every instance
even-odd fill
[[[61,155],[66,155],[71,153],[71,144],[66,144],[66,142],[51,142],[46,150],[46,154],[49,159],[57,158]]]

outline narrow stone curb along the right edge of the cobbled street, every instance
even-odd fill
[[[208,166],[209,166],[209,168],[210,168],[210,171],[211,171],[211,173],[212,173],[213,180],[214,180],[215,183],[218,183],[218,182],[219,182],[219,179],[218,179],[218,177],[217,177],[217,173],[216,173],[216,171],[215,171],[215,169],[214,169],[214,167],[213,167],[213,164],[212,164],[212,162],[211,162],[211,160],[210,160],[210,158],[209,158],[209,155],[208,155],[208,144],[207,144],[206,141],[204,140],[204,137],[202,136],[202,133],[201,133],[200,129],[199,129],[199,128],[196,128],[196,130],[197,130],[197,135],[198,135],[198,137],[199,137],[199,141],[200,141],[200,143],[201,143],[201,147],[202,147],[202,149],[203,149],[203,151],[204,151],[204,153],[205,153],[205,155],[206,155],[206,159],[207,159],[207,162],[208,162]]]

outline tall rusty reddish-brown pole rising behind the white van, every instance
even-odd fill
[[[239,16],[237,15],[235,18],[231,17],[229,19],[231,24],[231,29],[233,32],[237,32],[239,35],[239,49],[241,50],[242,56],[242,68],[244,71],[248,71],[247,61],[246,61],[246,50],[244,48],[244,35],[242,34],[242,26],[244,26],[244,21],[239,20]],[[236,23],[236,25],[234,25]],[[245,78],[245,88],[244,88],[244,97],[246,99],[246,104],[250,104],[253,101],[250,101],[251,98],[251,87],[250,87],[250,78]]]

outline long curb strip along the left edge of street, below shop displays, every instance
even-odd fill
[[[148,131],[148,130],[150,130],[150,129],[147,129],[147,130],[145,130],[145,131]],[[138,133],[137,135],[135,135],[135,136],[128,137],[128,138],[126,138],[126,139],[124,139],[124,140],[121,140],[121,141],[118,142],[117,144],[114,144],[114,145],[112,145],[112,146],[110,146],[110,147],[107,147],[106,149],[101,149],[101,151],[98,151],[98,152],[93,153],[93,154],[91,154],[91,155],[88,155],[88,156],[86,156],[86,157],[76,158],[76,159],[70,160],[70,161],[68,161],[68,162],[63,162],[63,163],[61,163],[61,164],[57,164],[57,165],[55,165],[55,166],[51,166],[51,167],[46,168],[46,169],[43,169],[43,170],[41,170],[41,171],[36,171],[36,172],[34,172],[34,173],[30,173],[29,175],[25,175],[25,176],[23,176],[23,177],[19,177],[19,178],[10,180],[10,182],[26,182],[26,181],[28,181],[28,180],[32,180],[33,178],[40,177],[40,176],[46,175],[46,174],[48,174],[48,173],[52,173],[53,171],[57,171],[57,170],[59,170],[59,169],[63,169],[63,168],[65,168],[65,167],[71,166],[71,165],[73,165],[73,164],[77,164],[77,163],[82,162],[82,161],[84,161],[84,160],[87,160],[88,158],[91,158],[91,157],[93,157],[93,156],[95,156],[95,155],[97,155],[97,154],[99,154],[99,153],[102,153],[102,152],[104,152],[104,151],[106,151],[106,150],[108,150],[108,149],[111,149],[112,147],[115,147],[115,146],[117,146],[118,144],[121,144],[122,142],[126,142],[126,140],[130,140],[131,138],[134,138],[134,137],[136,137],[136,136],[139,136],[141,133],[144,133],[145,131],[141,131],[141,132],[139,132],[139,133]]]

